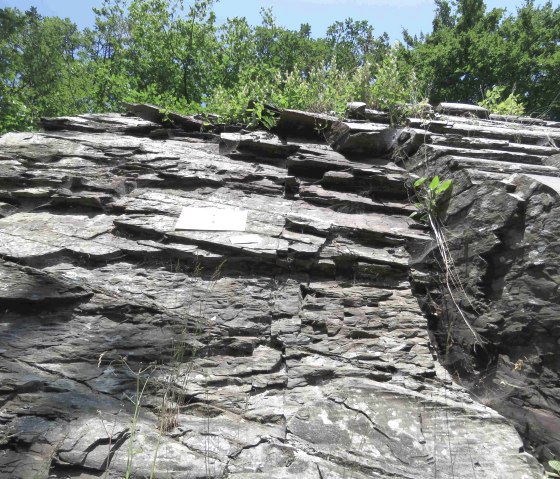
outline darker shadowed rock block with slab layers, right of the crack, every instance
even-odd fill
[[[411,123],[430,141],[406,166],[454,180],[445,236],[463,291],[453,294],[484,340],[476,344],[442,291],[433,248],[420,250],[414,283],[441,360],[512,419],[541,460],[559,457],[560,125],[499,116]]]

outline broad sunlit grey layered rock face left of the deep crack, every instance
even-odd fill
[[[301,135],[317,117],[283,118]],[[434,358],[408,253],[431,241],[387,150],[157,121],[84,115],[0,138],[1,477],[542,476]],[[360,130],[339,128],[346,145]],[[558,218],[548,184],[502,189],[507,224],[525,197]],[[176,231],[184,206],[246,211],[246,231]],[[526,265],[539,308],[554,248]]]

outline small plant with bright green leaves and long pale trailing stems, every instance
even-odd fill
[[[445,277],[445,288],[447,293],[451,298],[451,301],[459,312],[459,315],[469,328],[469,331],[475,338],[475,344],[482,346],[484,345],[484,340],[481,336],[474,330],[474,328],[469,323],[465,312],[459,305],[459,300],[457,294],[464,296],[466,301],[472,305],[468,294],[461,283],[461,278],[455,267],[455,262],[453,261],[453,256],[449,250],[447,244],[447,238],[445,237],[443,230],[443,223],[441,221],[442,216],[447,211],[449,206],[449,201],[451,199],[451,193],[453,191],[453,180],[441,181],[439,176],[434,176],[428,183],[427,177],[419,178],[414,182],[414,193],[416,201],[414,205],[418,209],[410,216],[421,223],[427,224],[436,240],[436,245],[441,256],[441,269]]]

